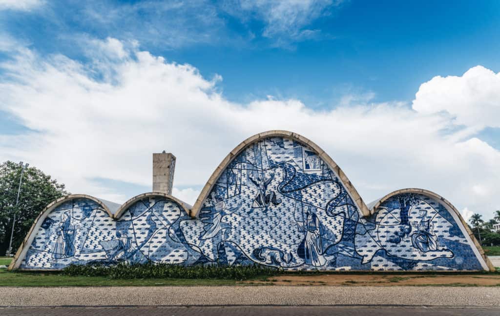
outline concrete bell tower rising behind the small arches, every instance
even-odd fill
[[[175,156],[163,150],[153,153],[153,192],[172,194]]]

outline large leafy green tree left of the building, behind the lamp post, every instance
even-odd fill
[[[35,218],[51,201],[69,194],[64,185],[40,170],[29,167],[23,171],[19,205],[15,206],[19,187],[20,167],[6,161],[0,164],[0,256],[5,254],[10,240],[15,213],[12,253],[17,251]]]

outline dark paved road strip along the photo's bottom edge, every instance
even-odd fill
[[[359,306],[212,306],[212,307],[58,307],[0,308],[2,316],[498,316],[500,308],[359,307]]]

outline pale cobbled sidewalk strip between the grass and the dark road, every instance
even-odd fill
[[[0,306],[395,305],[500,307],[500,287],[0,288]]]

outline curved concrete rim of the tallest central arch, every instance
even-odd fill
[[[363,216],[369,216],[369,210],[366,204],[364,204],[363,200],[361,199],[361,196],[359,193],[357,193],[356,189],[352,185],[352,183],[349,181],[345,173],[340,169],[340,167],[331,159],[328,154],[324,152],[318,145],[316,145],[314,142],[309,140],[308,138],[305,138],[302,135],[299,135],[297,133],[285,131],[285,130],[270,130],[262,133],[255,134],[253,136],[248,137],[247,139],[243,140],[239,145],[237,145],[225,158],[220,162],[220,164],[215,168],[213,171],[212,175],[206,182],[205,186],[201,190],[198,199],[194,203],[193,207],[191,208],[191,212],[189,215],[191,217],[196,217],[198,214],[199,210],[202,207],[203,201],[208,197],[208,194],[210,194],[210,191],[213,188],[213,185],[219,178],[219,176],[222,174],[224,169],[231,163],[231,161],[243,151],[243,149],[246,148],[247,145],[250,145],[256,141],[259,141],[263,138],[267,137],[273,137],[273,136],[281,136],[281,137],[286,137],[286,138],[291,138],[293,140],[297,140],[303,144],[306,144],[310,148],[312,148],[319,158],[321,158],[327,165],[330,167],[330,169],[338,176],[340,181],[342,181],[345,189],[347,190],[347,193],[350,195],[352,198],[352,201],[356,204],[358,209],[361,211]]]

